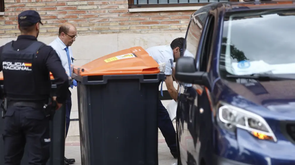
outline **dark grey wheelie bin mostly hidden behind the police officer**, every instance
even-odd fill
[[[52,95],[54,95],[56,85],[54,85],[54,78],[52,80]],[[0,85],[3,88],[3,75],[0,75]],[[2,100],[1,100],[2,102]],[[0,102],[0,104],[1,104]],[[2,112],[2,109],[0,108]],[[64,164],[64,150],[65,150],[65,123],[66,123],[66,106],[63,106],[55,112],[53,120],[50,121],[50,158],[47,165],[63,165]],[[3,138],[4,119],[0,116],[0,165],[4,164],[3,153]],[[24,156],[21,160],[21,165],[27,165],[27,146],[25,147]]]

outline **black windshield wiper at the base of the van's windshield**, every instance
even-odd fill
[[[259,81],[295,80],[295,77],[277,77],[277,76],[274,76],[274,74],[251,74],[251,75],[227,74],[226,78],[231,78],[231,79],[243,78],[243,79],[254,79]]]

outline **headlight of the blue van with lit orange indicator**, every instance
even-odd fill
[[[218,109],[218,118],[226,128],[242,128],[258,139],[277,141],[268,123],[252,112],[232,105],[222,105]]]

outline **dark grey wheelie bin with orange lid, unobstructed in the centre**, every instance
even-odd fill
[[[142,47],[73,66],[82,165],[158,164],[158,67]]]

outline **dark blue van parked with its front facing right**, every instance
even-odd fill
[[[295,165],[295,1],[206,5],[182,52],[178,165]]]

